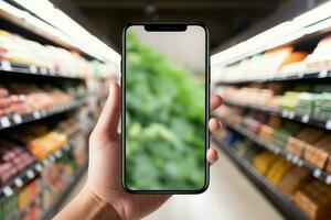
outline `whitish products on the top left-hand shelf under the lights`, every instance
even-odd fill
[[[13,65],[47,68],[61,76],[89,77],[114,75],[114,66],[87,61],[76,52],[42,45],[20,35],[0,30],[0,61]]]

